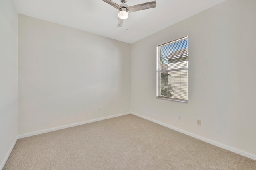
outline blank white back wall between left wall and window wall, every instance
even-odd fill
[[[18,19],[18,134],[130,111],[130,44]]]

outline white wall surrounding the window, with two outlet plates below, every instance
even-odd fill
[[[227,0],[132,44],[131,111],[255,156],[255,11]],[[186,35],[188,103],[156,99],[156,46]]]

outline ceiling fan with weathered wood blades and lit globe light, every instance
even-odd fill
[[[122,4],[120,5],[114,3],[111,0],[103,0],[103,1],[110,4],[111,6],[114,6],[116,9],[119,10],[117,27],[122,27],[124,20],[128,18],[128,12],[135,12],[135,11],[146,10],[149,8],[156,7],[156,1],[146,2],[143,4],[138,4],[138,5],[129,6],[129,7],[128,5],[125,4],[127,0],[120,0],[120,2],[122,2]]]

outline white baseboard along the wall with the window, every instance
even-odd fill
[[[243,150],[236,149],[236,148],[233,148],[233,147],[224,145],[224,144],[222,144],[222,143],[218,143],[218,142],[216,142],[216,141],[212,141],[211,139],[207,139],[207,138],[198,136],[198,135],[196,135],[196,134],[194,134],[194,133],[190,133],[190,132],[184,131],[184,130],[182,130],[182,129],[178,129],[178,128],[173,127],[173,126],[171,126],[171,125],[167,125],[167,124],[162,123],[162,122],[160,122],[160,121],[156,121],[156,120],[154,120],[154,119],[151,119],[151,118],[149,118],[149,117],[146,117],[146,116],[143,116],[143,115],[134,113],[134,112],[131,112],[131,114],[136,115],[136,116],[138,116],[138,117],[141,117],[141,118],[143,118],[143,119],[152,121],[152,122],[157,123],[157,124],[159,124],[159,125],[162,125],[162,126],[164,126],[164,127],[168,127],[169,129],[172,129],[172,130],[174,130],[174,131],[178,131],[178,132],[180,132],[180,133],[184,133],[184,134],[186,134],[186,135],[188,135],[188,136],[194,137],[194,138],[199,139],[199,140],[201,140],[201,141],[204,141],[204,142],[206,142],[206,143],[210,143],[210,144],[215,145],[215,146],[217,146],[217,147],[220,147],[220,148],[222,148],[222,149],[226,149],[226,150],[229,150],[229,151],[234,152],[234,153],[236,153],[236,154],[240,154],[240,155],[245,156],[245,157],[247,157],[247,158],[256,160],[256,155],[254,155],[254,154],[251,154],[251,153],[245,152],[245,151],[243,151]]]

